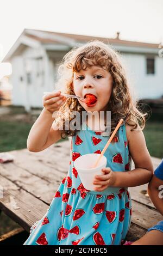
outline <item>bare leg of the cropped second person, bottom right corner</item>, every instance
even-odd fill
[[[131,245],[163,245],[163,232],[160,230],[151,230]]]

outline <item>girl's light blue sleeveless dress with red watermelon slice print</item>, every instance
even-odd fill
[[[71,138],[70,168],[54,193],[49,209],[34,223],[24,245],[121,245],[131,222],[131,198],[127,187],[108,187],[102,192],[86,190],[73,162],[80,155],[101,153],[109,136],[86,123]],[[104,155],[106,167],[130,170],[126,125],[120,126],[115,143]]]

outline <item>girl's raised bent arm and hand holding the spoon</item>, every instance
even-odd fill
[[[27,139],[27,148],[32,152],[39,152],[61,138],[61,130],[53,129],[52,124],[54,122],[53,113],[58,112],[60,107],[65,103],[66,97],[60,95],[59,92],[52,92],[43,96],[43,106],[39,118],[35,121],[32,129],[29,132]],[[55,122],[54,122],[55,123]]]

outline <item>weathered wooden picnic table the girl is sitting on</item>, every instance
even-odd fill
[[[0,164],[0,185],[3,186],[0,209],[29,232],[30,227],[46,213],[68,172],[70,141],[55,143],[39,153],[27,149],[10,153],[15,156],[14,162]],[[161,159],[152,157],[152,162],[155,169]],[[129,191],[133,214],[127,239],[134,241],[162,220],[162,216],[148,197],[147,184],[129,188]]]

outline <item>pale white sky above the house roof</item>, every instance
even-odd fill
[[[162,9],[162,0],[1,0],[0,62],[24,28],[159,44]]]

